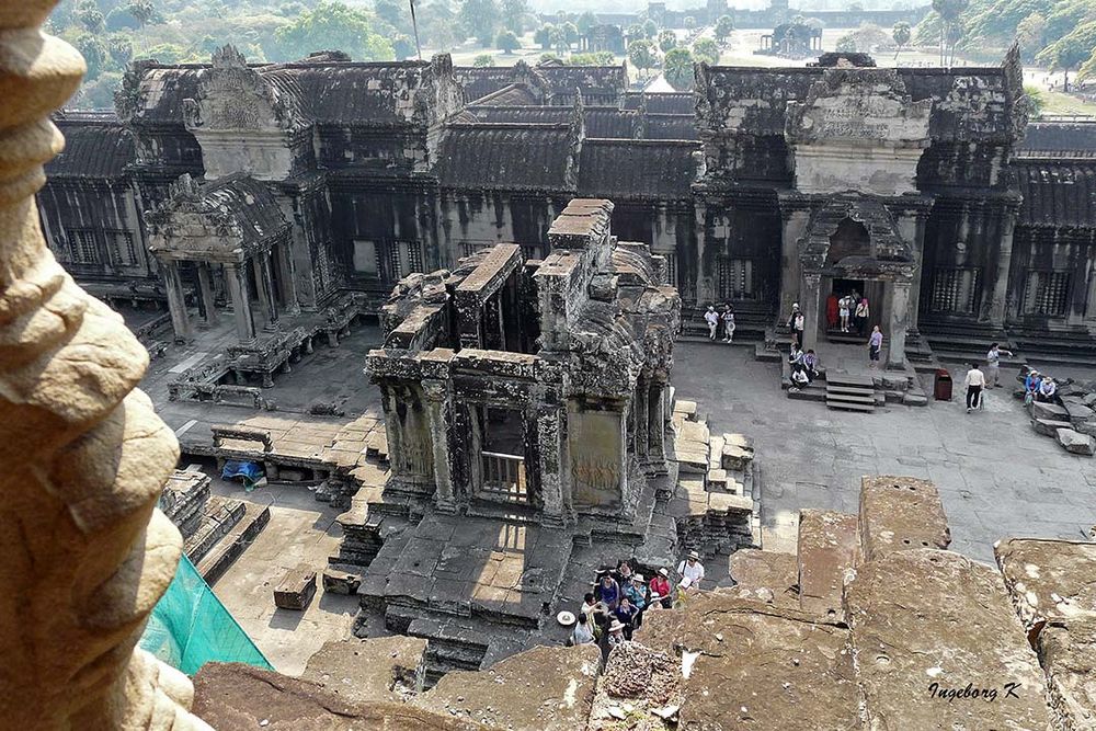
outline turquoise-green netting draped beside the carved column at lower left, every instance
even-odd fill
[[[140,647],[187,675],[207,662],[274,670],[185,555],[152,609]]]

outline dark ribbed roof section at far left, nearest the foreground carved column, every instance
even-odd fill
[[[46,163],[49,178],[119,178],[135,156],[134,137],[114,118],[55,119],[65,150]]]

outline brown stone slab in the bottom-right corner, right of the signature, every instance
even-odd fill
[[[1047,623],[1037,650],[1055,729],[1096,724],[1096,617]]]

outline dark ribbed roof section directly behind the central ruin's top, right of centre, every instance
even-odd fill
[[[692,196],[696,142],[586,139],[579,193],[612,199],[680,199]]]

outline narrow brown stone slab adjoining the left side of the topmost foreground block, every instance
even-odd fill
[[[836,511],[799,511],[799,603],[804,612],[844,617],[842,589],[859,559],[859,521]]]

